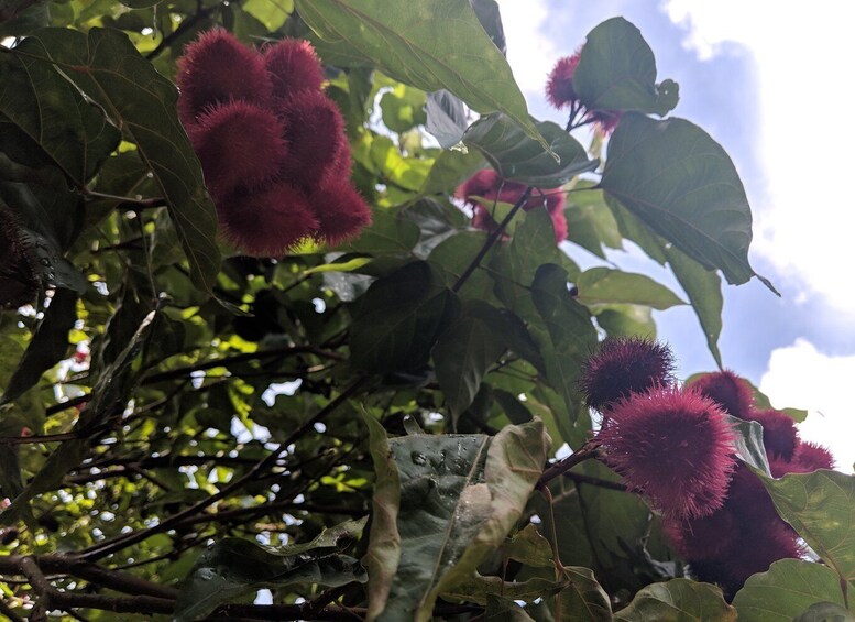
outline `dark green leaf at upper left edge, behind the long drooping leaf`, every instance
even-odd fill
[[[39,59],[43,55],[35,39],[0,54],[0,132],[6,135],[0,145],[13,143],[14,160],[30,151],[35,162],[51,162],[83,187],[121,134],[55,67]]]

